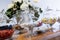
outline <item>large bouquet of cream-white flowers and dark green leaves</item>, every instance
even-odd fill
[[[9,17],[12,18],[13,15],[15,15],[17,13],[17,11],[20,13],[22,11],[25,11],[26,9],[32,10],[34,11],[34,16],[35,18],[32,18],[33,20],[38,20],[37,18],[40,16],[38,14],[38,11],[36,10],[36,7],[32,6],[30,2],[25,2],[24,0],[13,0],[12,4],[10,4],[8,6],[7,11],[5,12],[5,14]],[[29,11],[28,10],[28,11]],[[42,13],[42,9],[39,8],[39,12]],[[20,14],[18,13],[18,15]],[[17,15],[17,16],[18,16]]]

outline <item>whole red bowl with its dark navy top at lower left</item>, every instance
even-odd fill
[[[0,27],[0,39],[1,40],[11,38],[13,33],[14,33],[14,30],[12,29],[12,25]]]

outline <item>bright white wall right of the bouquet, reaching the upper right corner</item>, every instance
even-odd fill
[[[52,9],[60,9],[60,0],[39,0],[38,3],[31,1],[34,6],[46,9],[47,6]]]

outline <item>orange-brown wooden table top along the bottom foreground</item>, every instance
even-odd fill
[[[25,33],[25,34],[20,34],[20,36],[17,37],[17,40],[42,40],[42,38],[44,38],[50,34],[54,34],[54,33],[53,32],[46,32],[46,33],[39,34],[39,35],[32,36],[32,37],[25,37],[25,35],[27,35]]]

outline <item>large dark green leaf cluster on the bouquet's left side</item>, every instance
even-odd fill
[[[14,6],[12,8],[9,8],[5,14],[9,17],[9,18],[12,18],[14,14],[16,14],[16,11],[20,10],[20,6],[22,5],[23,1],[21,3],[19,2],[16,2],[14,3]]]

